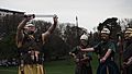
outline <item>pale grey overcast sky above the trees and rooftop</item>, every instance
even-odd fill
[[[26,13],[57,14],[61,23],[75,23],[92,30],[108,17],[132,17],[132,0],[0,0],[0,8]]]

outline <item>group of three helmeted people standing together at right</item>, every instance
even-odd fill
[[[123,40],[122,42],[116,42],[114,40],[112,40],[110,38],[110,29],[108,29],[107,27],[103,27],[99,35],[100,42],[98,42],[98,45],[94,47],[89,47],[88,36],[82,35],[80,37],[80,46],[77,46],[76,50],[74,49],[74,51],[69,52],[77,64],[75,74],[92,74],[90,64],[91,55],[85,55],[86,52],[87,54],[89,54],[89,52],[97,53],[99,61],[97,74],[132,74],[132,27],[125,28],[121,37]],[[116,57],[116,53],[119,46],[122,47],[120,48],[120,50],[122,51],[122,58],[120,60],[120,63],[117,63],[119,57]],[[88,60],[89,62],[84,63],[86,60]],[[80,67],[78,63],[81,63],[84,65],[81,65]],[[121,66],[119,66],[118,64],[121,64]],[[88,67],[90,67],[90,70]]]

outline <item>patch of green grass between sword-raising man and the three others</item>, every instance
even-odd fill
[[[74,74],[75,64],[70,60],[52,61],[45,63],[47,74]]]

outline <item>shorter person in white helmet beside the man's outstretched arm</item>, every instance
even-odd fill
[[[80,49],[88,47],[88,36],[82,35],[80,37],[80,45],[75,47],[69,54],[74,57],[76,62],[75,74],[92,74],[90,61],[91,53],[82,52]]]

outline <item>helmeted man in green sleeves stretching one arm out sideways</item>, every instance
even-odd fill
[[[110,30],[102,28],[100,32],[100,42],[91,48],[81,49],[81,51],[95,51],[98,54],[99,66],[97,74],[119,74],[119,69],[114,63],[116,45],[110,40]]]

